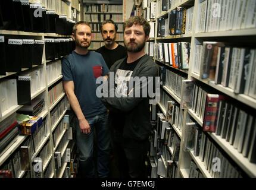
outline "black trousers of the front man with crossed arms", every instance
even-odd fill
[[[147,178],[145,161],[148,143],[148,139],[143,141],[130,138],[114,139],[114,157],[120,178]]]

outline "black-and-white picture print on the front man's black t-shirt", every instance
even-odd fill
[[[117,96],[127,97],[130,77],[133,71],[117,69],[115,73],[115,93]]]

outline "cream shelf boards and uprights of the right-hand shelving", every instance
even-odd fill
[[[210,1],[210,0],[206,0]],[[152,1],[151,1],[152,2]],[[152,42],[154,41],[154,44],[156,43],[177,43],[177,42],[190,42],[191,43],[191,51],[189,56],[189,69],[183,70],[183,69],[177,69],[173,66],[170,66],[168,63],[160,62],[156,57],[154,57],[154,61],[159,66],[164,66],[166,69],[168,69],[171,72],[174,72],[175,74],[186,76],[189,80],[193,80],[196,82],[196,84],[200,84],[205,88],[210,88],[211,90],[215,90],[216,94],[226,94],[226,96],[231,97],[232,99],[235,99],[237,102],[239,102],[239,105],[242,105],[244,107],[248,107],[248,110],[254,110],[256,109],[256,99],[246,96],[245,94],[235,94],[234,90],[232,90],[229,87],[223,87],[220,84],[215,84],[214,81],[210,80],[202,80],[199,74],[196,74],[193,72],[193,65],[195,65],[195,56],[196,56],[196,45],[201,45],[202,42],[208,41],[208,42],[227,42],[232,44],[232,46],[245,46],[248,44],[248,47],[254,47],[256,44],[256,29],[241,29],[241,30],[227,30],[227,31],[210,31],[210,32],[202,32],[197,33],[198,27],[198,21],[199,21],[199,15],[201,14],[201,10],[199,10],[199,4],[204,1],[200,0],[182,0],[182,1],[172,1],[173,4],[171,4],[171,8],[169,8],[167,11],[161,11],[162,1],[157,0],[157,17],[153,20],[155,21],[155,38],[151,38],[148,41]],[[193,19],[192,19],[192,30],[191,33],[185,33],[185,34],[179,34],[179,35],[165,35],[164,37],[158,37],[157,31],[158,31],[158,20],[159,18],[166,17],[173,9],[176,7],[185,7],[185,8],[191,8],[193,7]],[[223,7],[221,7],[221,10]],[[222,14],[222,13],[221,13]],[[207,14],[206,14],[207,17]],[[210,19],[210,18],[206,18]],[[231,18],[230,18],[231,19]],[[151,19],[152,21],[152,19]],[[168,20],[169,22],[169,20]],[[167,22],[167,23],[168,23]],[[213,24],[213,23],[211,23]],[[182,97],[176,96],[176,94],[173,93],[170,88],[168,88],[166,85],[161,86],[161,91],[165,91],[166,94],[168,94],[171,99],[175,100],[177,103],[182,102]],[[202,101],[202,100],[201,100]],[[163,112],[164,115],[166,115],[166,107],[161,105],[161,103],[157,104],[159,107],[160,112]],[[238,107],[239,108],[239,107]],[[246,108],[245,108],[246,109]],[[255,121],[255,114],[251,113],[254,117]],[[199,127],[202,128],[204,121],[192,110],[192,109],[184,109],[184,116],[183,116],[183,124],[182,124],[182,132],[178,130],[176,126],[171,125],[174,130],[176,131],[176,134],[179,135],[181,139],[180,144],[180,152],[179,152],[179,164],[178,166],[178,175],[177,178],[189,178],[190,173],[190,167],[191,167],[191,160],[195,162],[198,169],[201,171],[202,176],[204,178],[213,178],[211,176],[210,172],[208,172],[207,169],[205,169],[204,162],[201,162],[198,156],[193,155],[193,151],[184,151],[185,148],[185,133],[186,133],[186,121],[185,118],[191,118],[193,122],[197,123]],[[238,150],[233,147],[233,145],[230,145],[229,142],[226,141],[226,139],[221,138],[219,135],[216,135],[214,132],[204,132],[207,134],[207,138],[210,137],[210,140],[213,141],[213,144],[218,147],[218,151],[220,153],[224,153],[225,158],[227,160],[230,160],[232,164],[235,164],[235,167],[238,166],[239,171],[242,171],[245,173],[245,175],[248,175],[250,178],[256,177],[256,164],[249,162],[249,160],[242,155],[242,153],[238,153]],[[252,142],[254,143],[254,142]],[[170,150],[171,151],[171,150]],[[211,161],[210,161],[211,162]]]

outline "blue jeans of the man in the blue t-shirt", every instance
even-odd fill
[[[83,134],[80,131],[79,122],[76,125],[76,143],[80,151],[80,171],[81,177],[95,177],[95,163],[93,160],[93,143],[97,145],[97,170],[99,178],[107,178],[110,169],[110,130],[108,128],[107,112],[86,118],[90,125],[90,133]],[[96,141],[95,138],[96,137]]]

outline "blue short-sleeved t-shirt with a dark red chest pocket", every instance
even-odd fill
[[[96,78],[107,75],[109,69],[100,53],[80,55],[73,52],[62,61],[63,81],[74,82],[74,93],[85,117],[107,111],[96,96]]]

